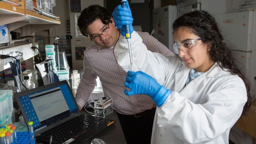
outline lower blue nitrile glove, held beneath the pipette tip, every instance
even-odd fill
[[[163,102],[171,94],[170,90],[167,90],[157,83],[154,78],[142,71],[128,71],[125,77],[125,87],[131,89],[131,91],[125,90],[126,95],[147,94],[158,107],[162,106]]]

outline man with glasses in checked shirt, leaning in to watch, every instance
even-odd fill
[[[112,14],[102,6],[91,5],[81,12],[77,25],[80,32],[94,42],[84,52],[84,69],[75,98],[79,108],[85,106],[97,85],[98,76],[104,96],[113,99],[113,107],[117,111],[127,143],[150,143],[155,103],[149,96],[129,97],[123,92],[126,72],[117,62],[115,50],[120,30],[115,27]],[[132,26],[131,29],[133,30]],[[148,50],[165,56],[173,55],[147,32],[138,34]]]

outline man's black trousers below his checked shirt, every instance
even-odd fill
[[[127,144],[150,144],[155,114],[144,117],[118,114]]]

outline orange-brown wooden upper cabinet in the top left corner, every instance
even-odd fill
[[[19,22],[17,26],[25,24],[60,24],[60,18],[40,10],[26,0],[0,0],[0,26]],[[16,28],[15,27],[15,28]]]

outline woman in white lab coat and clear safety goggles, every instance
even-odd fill
[[[146,94],[157,104],[152,144],[228,144],[230,129],[250,108],[249,82],[209,13],[184,14],[173,30],[178,56],[167,58],[132,33],[134,69],[141,71],[128,71],[125,94]],[[125,38],[118,45],[118,63],[128,70]]]

